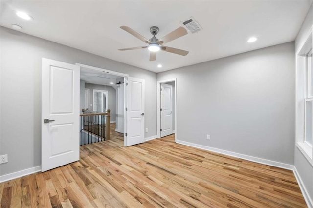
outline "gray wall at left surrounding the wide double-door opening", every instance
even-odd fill
[[[145,137],[156,135],[156,73],[46,41],[11,29],[1,30],[1,145],[8,154],[0,175],[41,165],[42,57],[76,62],[145,80]],[[18,96],[16,95],[18,92]],[[17,129],[18,128],[18,129]]]

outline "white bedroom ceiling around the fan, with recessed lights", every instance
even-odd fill
[[[22,26],[22,32],[88,51],[118,62],[154,72],[214,60],[275,44],[294,41],[309,10],[310,0],[287,1],[1,1],[1,22]],[[34,20],[18,18],[22,10]],[[144,42],[119,27],[129,26],[151,38],[151,26],[160,28],[158,38],[193,16],[203,28],[167,46],[188,50],[183,57],[159,51],[149,62],[148,49],[118,51],[144,46]],[[250,36],[259,40],[247,43]],[[162,68],[157,68],[162,64]]]

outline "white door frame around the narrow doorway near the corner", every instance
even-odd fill
[[[167,79],[167,80],[161,80],[161,81],[157,81],[156,82],[156,133],[157,133],[157,138],[161,137],[161,113],[160,113],[160,109],[161,109],[161,94],[160,94],[160,88],[161,88],[161,83],[168,83],[168,82],[174,82],[174,93],[175,93],[175,142],[177,140],[177,80],[176,78],[172,78],[172,79]]]

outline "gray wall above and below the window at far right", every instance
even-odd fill
[[[313,24],[313,6],[311,5],[310,10],[306,16],[305,21],[302,24],[302,27],[298,33],[297,38],[295,39],[295,53],[299,50],[302,42],[305,41],[305,36],[309,32],[309,29]],[[303,181],[305,188],[307,189],[310,198],[313,200],[313,167],[300,152],[297,146],[294,148],[294,165],[298,170],[298,173]]]

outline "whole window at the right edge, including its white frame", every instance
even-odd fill
[[[313,166],[312,31],[296,52],[296,146]]]

